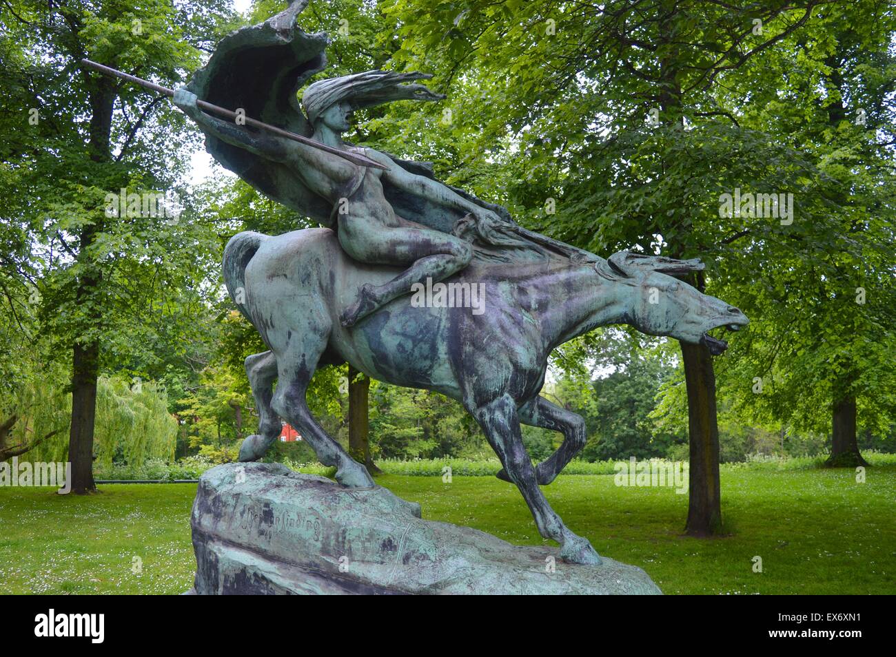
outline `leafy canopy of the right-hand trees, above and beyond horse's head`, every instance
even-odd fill
[[[452,124],[435,108],[412,124],[428,122],[426,149],[451,154],[452,180],[603,254],[702,256],[708,292],[753,320],[717,360],[726,405],[817,433],[830,424],[819,408],[855,396],[860,426],[892,423],[889,9],[389,0],[383,11],[386,34],[404,39],[396,64],[435,72],[449,96]],[[735,188],[793,193],[794,221],[720,216]],[[682,410],[683,388],[664,388],[676,396],[666,410]]]

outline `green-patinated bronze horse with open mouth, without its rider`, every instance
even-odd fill
[[[473,260],[445,283],[460,286],[455,289],[481,285],[477,312],[458,304],[418,307],[404,295],[344,327],[340,312],[362,286],[383,285],[400,268],[352,260],[329,228],[278,236],[240,233],[224,254],[228,293],[270,351],[246,359],[260,421],[239,458],[263,456],[280,433],[280,416],[301,432],[321,463],[336,468],[342,485],[374,486],[365,467],[323,431],[306,404],[314,371],[348,362],[376,380],[437,390],[460,401],[504,465],[499,476],[522,493],[538,532],[561,544],[564,560],[597,564],[590,542],[564,525],[538,488],[552,482],[585,443],[582,417],[538,395],[548,354],[607,324],[702,343],[720,354],[727,345],[709,331],[737,330],[749,320],[672,276],[699,269],[699,260],[632,252],[608,260],[586,254],[512,267]],[[561,431],[564,442],[533,466],[521,422]]]

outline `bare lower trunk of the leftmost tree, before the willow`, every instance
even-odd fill
[[[72,426],[68,460],[72,463],[72,492],[96,491],[93,482],[93,423],[97,410],[99,344],[74,344],[72,354]]]

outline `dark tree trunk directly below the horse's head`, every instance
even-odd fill
[[[691,447],[685,532],[692,536],[710,536],[719,533],[722,525],[716,378],[709,348],[681,343],[681,354],[685,364]]]

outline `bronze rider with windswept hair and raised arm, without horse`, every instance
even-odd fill
[[[420,73],[369,71],[314,82],[302,96],[308,120],[314,127],[312,139],[338,149],[354,150],[388,170],[353,164],[311,146],[272,135],[260,135],[227,121],[202,113],[196,96],[179,89],[174,102],[202,128],[223,141],[263,158],[286,164],[314,193],[332,204],[337,235],[342,249],[355,260],[369,264],[407,266],[399,276],[382,286],[366,284],[358,300],[340,315],[343,326],[358,320],[402,294],[415,283],[450,277],[465,268],[473,255],[469,242],[422,226],[395,214],[386,201],[383,182],[404,192],[426,197],[444,207],[468,213],[480,235],[494,235],[495,228],[515,226],[495,212],[469,201],[449,187],[398,166],[374,149],[352,147],[342,141],[349,130],[349,115],[358,107],[369,107],[400,98],[436,100],[443,98],[418,84],[403,81],[427,77]]]

